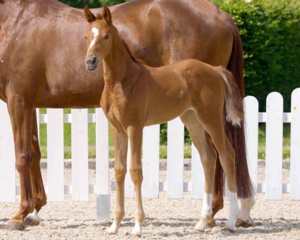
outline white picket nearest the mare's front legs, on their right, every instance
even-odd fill
[[[48,200],[63,201],[63,109],[47,109]]]

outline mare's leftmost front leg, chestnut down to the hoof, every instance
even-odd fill
[[[21,202],[18,212],[9,219],[6,229],[23,230],[25,216],[34,209],[30,182],[33,104],[17,95],[9,96],[7,104],[13,131],[16,167],[19,173]]]

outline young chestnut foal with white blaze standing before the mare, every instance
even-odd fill
[[[235,152],[224,132],[223,105],[226,99],[226,118],[233,125],[240,124],[243,105],[232,74],[224,67],[214,67],[195,59],[149,67],[135,60],[120,40],[107,7],[104,6],[102,15],[96,17],[85,7],[84,15],[91,23],[86,34],[88,50],[85,64],[87,69],[93,70],[95,62],[102,60],[105,83],[100,105],[110,121],[115,149],[116,209],[108,232],[117,233],[124,217],[128,138],[131,152],[129,169],[136,194],[135,225],[131,236],[140,236],[145,218],[141,199],[142,130],[144,126],[166,122],[177,116],[191,135],[205,174],[201,217],[195,229],[204,231],[212,213],[217,151],[229,190],[229,219],[224,229],[233,231],[239,214]],[[203,131],[204,139],[199,137]]]

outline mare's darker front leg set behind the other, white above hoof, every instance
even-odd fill
[[[33,110],[32,115],[32,165],[30,169],[31,187],[33,192],[34,211],[29,213],[24,221],[26,225],[38,225],[40,217],[37,215],[42,206],[47,203],[46,193],[44,190],[41,172],[40,172],[40,149],[38,144],[36,111]]]

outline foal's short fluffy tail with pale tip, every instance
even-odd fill
[[[231,124],[240,126],[244,116],[242,97],[235,83],[233,74],[223,66],[217,67],[226,87],[226,120]]]

